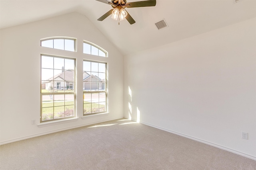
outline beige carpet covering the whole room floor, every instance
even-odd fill
[[[0,146],[1,170],[256,170],[256,161],[127,119]]]

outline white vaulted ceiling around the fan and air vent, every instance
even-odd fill
[[[0,0],[0,28],[78,12],[129,55],[254,18],[256,0],[156,0],[154,7],[126,8],[133,25],[126,20],[118,25],[110,16],[97,21],[110,9],[96,0]],[[169,27],[158,30],[154,23],[162,19]]]

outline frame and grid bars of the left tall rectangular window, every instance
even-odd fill
[[[74,60],[74,82],[73,82],[73,91],[71,92],[58,92],[57,89],[57,83],[60,83],[60,88],[61,88],[61,82],[56,80],[56,90],[57,92],[54,92],[54,86],[53,86],[53,92],[42,92],[42,56],[45,57],[54,57],[54,58],[61,58],[61,59],[72,59]],[[54,70],[54,68],[49,68]],[[54,76],[54,75],[53,75]],[[53,80],[54,83],[54,80]],[[64,81],[64,86],[65,86],[65,81]],[[65,87],[64,87],[65,88]],[[56,118],[54,119],[54,112],[53,112],[53,119],[49,119],[49,120],[42,120],[42,109],[46,108],[46,107],[42,107],[43,101],[42,101],[42,96],[44,95],[50,95],[51,99],[52,99],[52,103],[53,103],[53,109],[54,109],[54,95],[64,95],[64,110],[65,110],[65,106],[72,106],[72,105],[66,105],[65,102],[65,94],[73,94],[74,95],[74,115],[73,116],[69,116],[69,117],[61,117],[61,118]],[[58,106],[55,106],[58,107]],[[45,122],[54,122],[54,121],[59,121],[59,120],[64,120],[64,119],[73,119],[76,118],[76,58],[73,57],[66,57],[66,56],[59,56],[59,55],[49,55],[49,54],[40,54],[40,123],[45,123]]]

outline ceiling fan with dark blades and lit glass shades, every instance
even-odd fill
[[[124,8],[136,8],[136,7],[146,7],[146,6],[156,6],[156,0],[146,0],[137,2],[127,2],[126,0],[97,0],[105,4],[111,5],[114,9],[109,10],[106,14],[101,16],[98,21],[103,21],[105,18],[112,14],[112,19],[117,20],[127,20],[130,24],[135,23],[134,19]]]

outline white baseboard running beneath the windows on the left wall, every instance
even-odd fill
[[[97,123],[102,123],[102,122],[105,122],[105,121],[112,121],[112,120],[116,120],[116,119],[122,119],[124,117],[116,117],[116,118],[113,118],[113,119],[106,119],[106,120],[103,120],[103,121],[96,121],[96,122],[92,122],[92,123],[86,123],[86,124],[83,124],[83,125],[78,125],[78,126],[72,126],[72,127],[68,127],[68,128],[63,128],[63,129],[58,129],[58,130],[54,130],[54,131],[48,131],[48,132],[45,132],[45,133],[39,133],[39,134],[36,134],[36,135],[30,135],[30,136],[26,136],[26,137],[21,137],[21,138],[17,138],[17,139],[12,139],[12,140],[9,140],[9,141],[3,141],[0,143],[0,145],[5,145],[5,144],[8,144],[8,143],[13,143],[13,142],[17,142],[17,141],[22,141],[24,139],[30,139],[30,138],[33,138],[33,137],[38,137],[38,136],[42,136],[42,135],[48,135],[50,133],[56,133],[56,132],[60,132],[60,131],[66,131],[66,130],[69,130],[69,129],[75,129],[75,128],[78,128],[78,127],[84,127],[84,126],[88,126],[88,125],[93,125],[93,124],[97,124]]]

